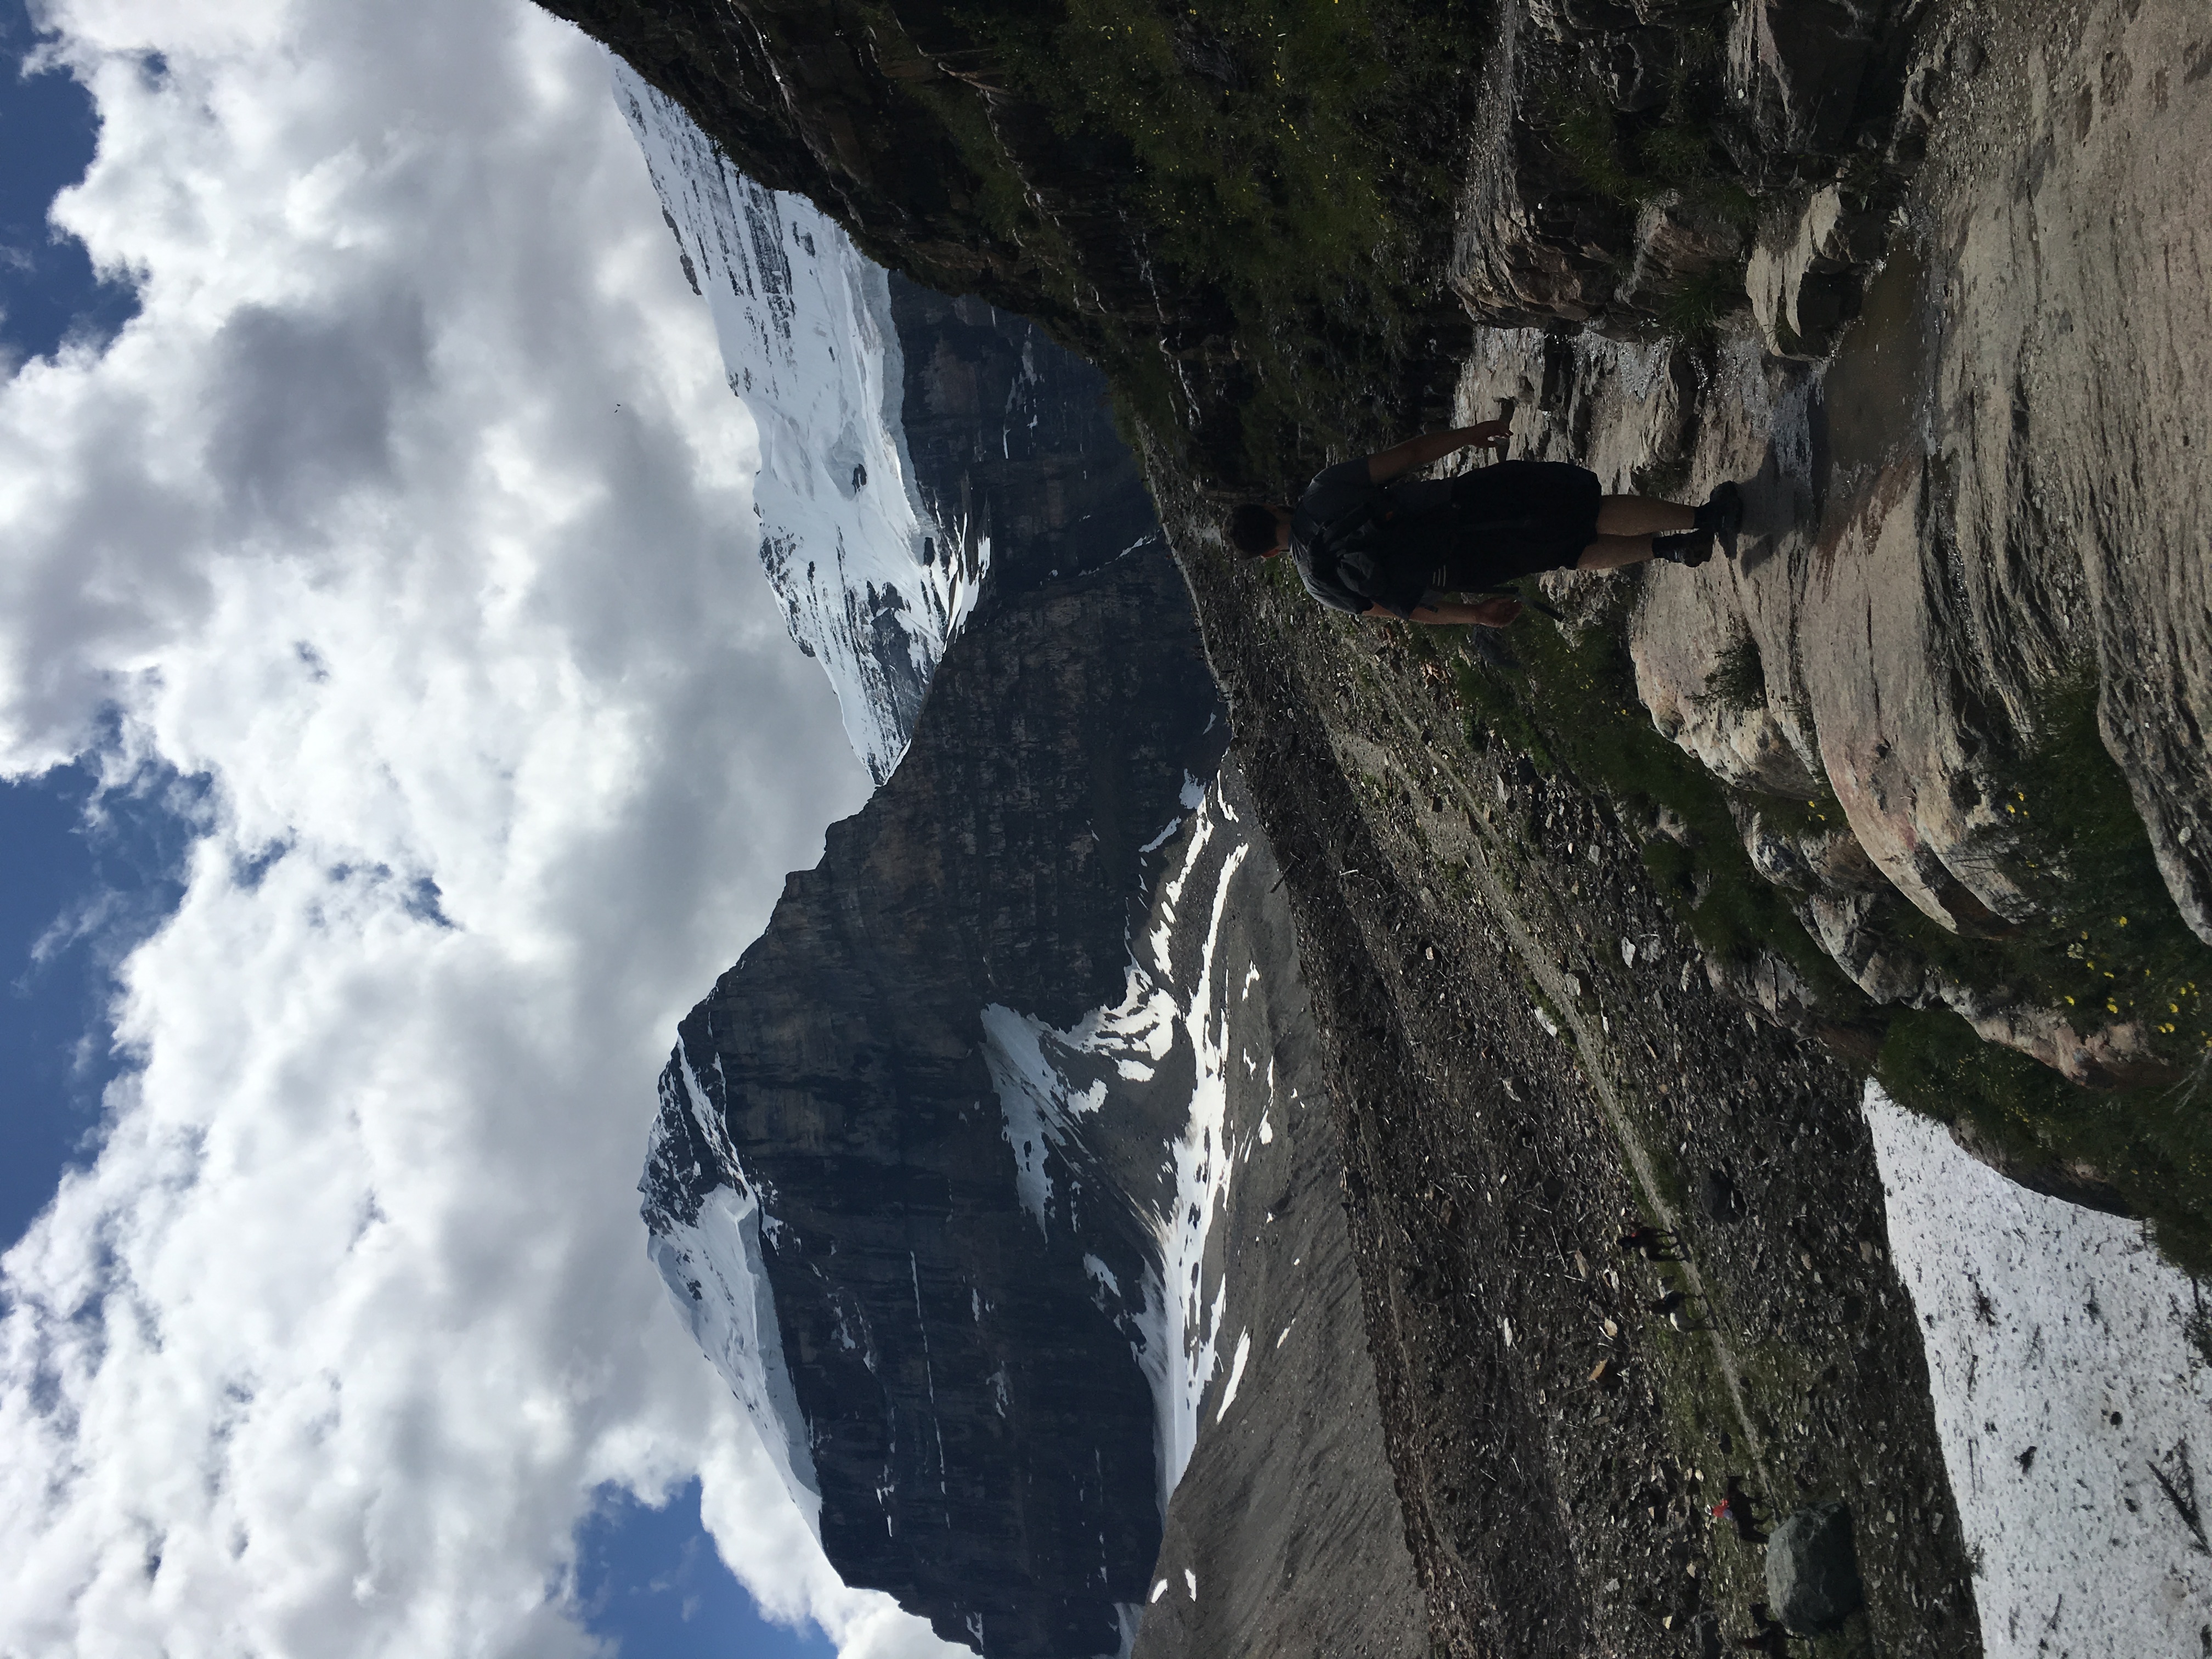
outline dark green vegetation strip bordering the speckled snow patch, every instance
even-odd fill
[[[1876,1077],[1900,1106],[1964,1117],[2024,1164],[2086,1164],[2174,1263],[2212,1274],[2212,1115],[2194,1084],[2077,1088],[1955,1013],[1913,1009],[1891,1020]]]

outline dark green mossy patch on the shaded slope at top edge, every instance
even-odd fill
[[[1467,0],[1418,15],[1396,0],[1219,0],[1203,15],[975,0],[953,15],[1144,228],[1152,288],[1217,312],[1188,343],[1106,343],[1110,378],[1150,380],[1133,403],[1157,434],[1267,480],[1405,422],[1400,387],[1444,303],[1451,135],[1480,38]],[[993,166],[1020,190],[1006,153]],[[1192,434],[1170,358],[1225,341],[1245,389],[1210,409],[1219,431]]]

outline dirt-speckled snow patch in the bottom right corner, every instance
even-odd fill
[[[2188,1276],[2137,1223],[2006,1181],[1871,1084],[1865,1110],[1984,1652],[2212,1652],[2212,1367]]]

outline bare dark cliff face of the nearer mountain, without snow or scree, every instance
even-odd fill
[[[670,1062],[648,1221],[759,1194],[830,1559],[993,1655],[1121,1646],[1159,1482],[1152,1391],[1084,1265],[1135,1285],[1146,1239],[1126,1212],[1040,1237],[982,1009],[1071,1026],[1119,1000],[1139,847],[1210,774],[1217,712],[1166,549],[995,608]]]

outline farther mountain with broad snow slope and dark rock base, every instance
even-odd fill
[[[677,259],[761,442],[761,564],[883,783],[982,599],[1159,533],[1106,383],[1033,323],[887,274],[801,197],[737,173],[615,64]]]

